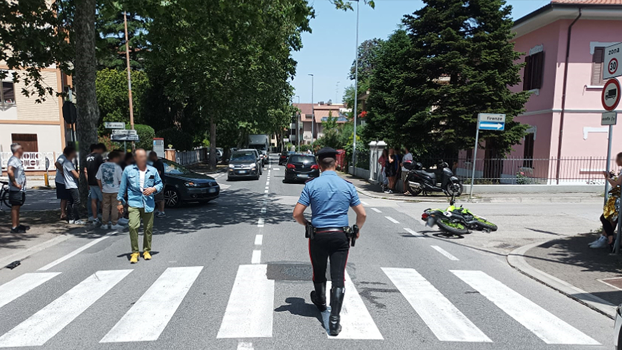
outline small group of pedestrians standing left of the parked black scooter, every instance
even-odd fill
[[[401,153],[399,151],[396,152],[394,148],[383,149],[382,155],[378,158],[378,163],[381,166],[378,181],[383,187],[384,193],[392,194],[396,192],[398,179],[402,180],[402,184],[406,182],[408,169],[404,168],[404,163],[407,161],[412,162],[412,159],[412,154],[406,147],[401,148]],[[407,194],[407,187],[403,186],[403,188],[404,194]]]

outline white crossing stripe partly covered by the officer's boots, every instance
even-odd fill
[[[384,339],[347,271],[344,283],[346,292],[340,315],[343,330],[336,337],[328,334],[327,337],[329,339]],[[330,281],[327,281],[326,290],[330,290],[330,286]],[[322,313],[324,324],[328,324],[328,315],[330,315],[328,312]]]

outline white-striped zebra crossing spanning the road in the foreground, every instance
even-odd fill
[[[272,338],[275,289],[279,283],[267,277],[267,264],[239,265],[230,298],[216,338]],[[494,343],[481,324],[471,321],[450,298],[428,281],[415,268],[380,267],[417,316],[440,342]],[[156,341],[183,299],[200,279],[202,266],[169,267],[150,285],[131,308],[118,315],[118,321],[99,341],[126,343]],[[72,323],[108,291],[131,275],[133,270],[101,270],[93,273],[44,306],[34,315],[0,335],[0,348],[44,346],[63,328]],[[456,283],[466,283],[490,302],[486,310],[503,311],[545,344],[599,345],[598,341],[553,315],[501,281],[480,270],[450,270]],[[63,278],[60,272],[25,273],[0,285],[0,311],[18,298],[27,298],[30,291],[50,280]],[[341,311],[343,331],[330,339],[385,339],[358,293],[355,281],[346,272],[346,296]],[[330,282],[327,289],[330,289]],[[278,301],[277,301],[278,303]],[[182,311],[179,311],[182,312]],[[148,317],[145,317],[145,316]],[[327,324],[328,313],[323,313]],[[295,317],[295,316],[292,316]],[[177,322],[180,319],[175,318]],[[481,321],[480,321],[481,322]]]

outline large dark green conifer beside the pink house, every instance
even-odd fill
[[[404,16],[405,31],[383,45],[371,80],[369,123],[373,136],[408,144],[418,153],[455,154],[470,148],[478,113],[505,113],[506,130],[483,131],[493,156],[519,143],[526,125],[513,121],[528,92],[520,82],[511,6],[503,0],[425,0]],[[437,153],[440,154],[440,153]]]

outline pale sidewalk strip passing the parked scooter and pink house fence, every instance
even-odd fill
[[[409,194],[394,193],[386,194],[379,184],[372,184],[366,179],[355,177],[351,174],[338,172],[339,176],[352,182],[356,190],[365,196],[378,199],[390,199],[406,202],[448,202],[448,197],[438,192],[429,196],[411,196]],[[521,185],[515,185],[521,186]],[[475,191],[474,191],[475,192]],[[598,203],[603,202],[603,197],[592,192],[586,193],[484,193],[474,194],[473,199],[468,200],[468,194],[463,194],[460,199],[463,202],[473,203]]]

